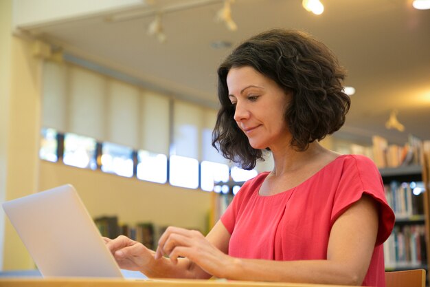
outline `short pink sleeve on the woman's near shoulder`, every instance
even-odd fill
[[[394,227],[394,212],[387,204],[381,174],[374,162],[365,156],[350,156],[350,159],[344,162],[330,223],[334,224],[343,212],[361,199],[363,194],[370,195],[378,203],[376,245],[383,244]]]

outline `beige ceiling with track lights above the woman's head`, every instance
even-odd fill
[[[68,54],[212,107],[218,105],[216,69],[232,48],[211,43],[236,45],[269,28],[306,30],[337,54],[348,70],[346,85],[357,90],[335,136],[370,143],[378,134],[398,145],[408,134],[430,140],[430,10],[415,10],[409,0],[321,1],[325,11],[317,16],[301,0],[236,0],[236,32],[214,21],[223,7],[216,0],[153,0],[133,11],[21,28]],[[166,43],[146,32],[162,9]],[[385,128],[394,109],[403,132]]]

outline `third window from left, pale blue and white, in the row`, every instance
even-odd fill
[[[111,142],[104,142],[102,147],[102,171],[118,176],[133,176],[133,149]]]

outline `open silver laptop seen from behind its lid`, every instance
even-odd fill
[[[2,205],[43,277],[124,278],[70,184]]]

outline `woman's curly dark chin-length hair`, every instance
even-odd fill
[[[305,151],[310,142],[322,140],[341,128],[350,108],[343,92],[346,71],[324,43],[306,32],[274,29],[241,43],[218,67],[220,110],[212,133],[212,145],[243,169],[253,169],[263,150],[253,149],[234,120],[227,74],[234,67],[253,67],[292,95],[285,120],[291,145]]]

